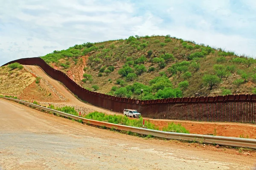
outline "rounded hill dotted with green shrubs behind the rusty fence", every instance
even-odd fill
[[[41,58],[84,88],[119,97],[161,99],[256,92],[255,59],[169,35],[87,42]]]

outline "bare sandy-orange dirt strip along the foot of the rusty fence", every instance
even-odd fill
[[[108,114],[114,114],[111,111],[98,108],[92,105],[88,105],[84,102],[79,101],[76,99],[73,94],[70,93],[63,85],[61,85],[58,81],[55,79],[52,79],[51,77],[47,76],[47,74],[44,73],[44,71],[38,67],[38,66],[32,66],[27,65],[26,67],[29,67],[32,71],[36,72],[39,76],[44,77],[44,79],[47,79],[49,83],[63,96],[65,96],[66,99],[68,99],[66,102],[55,102],[58,104],[64,104],[64,105],[77,105],[77,106],[83,106],[92,110],[108,113]],[[41,101],[44,102],[44,101]],[[53,103],[53,104],[55,104]],[[241,123],[215,123],[215,122],[192,122],[192,121],[178,121],[178,120],[163,120],[163,119],[151,119],[151,122],[155,125],[162,128],[163,126],[167,126],[169,122],[175,122],[180,123],[186,129],[189,130],[190,133],[196,133],[196,134],[214,134],[218,136],[230,136],[230,137],[240,137],[244,136],[244,138],[248,137],[251,139],[256,139],[256,125],[252,124],[241,124]]]

